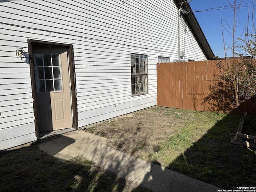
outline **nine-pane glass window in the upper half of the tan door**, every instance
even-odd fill
[[[36,91],[62,91],[59,54],[34,54],[36,71]]]

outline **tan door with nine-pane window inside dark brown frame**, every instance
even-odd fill
[[[66,48],[33,46],[39,132],[72,128]]]

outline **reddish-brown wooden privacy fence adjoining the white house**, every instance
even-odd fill
[[[238,113],[233,92],[220,78],[220,60],[157,64],[157,105],[196,111]],[[242,103],[255,114],[255,102]]]

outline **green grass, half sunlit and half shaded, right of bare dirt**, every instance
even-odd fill
[[[180,111],[173,114],[180,114]],[[242,184],[255,186],[255,150],[230,143],[242,117],[207,112],[190,114],[193,119],[184,121],[182,127],[160,142],[161,150],[154,161],[221,188],[230,189]],[[176,118],[182,118],[182,115]]]

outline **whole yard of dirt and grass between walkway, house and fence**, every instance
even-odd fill
[[[154,106],[86,131],[109,138],[108,146],[122,152],[220,188],[236,189],[256,184],[255,150],[230,142],[241,117]]]

